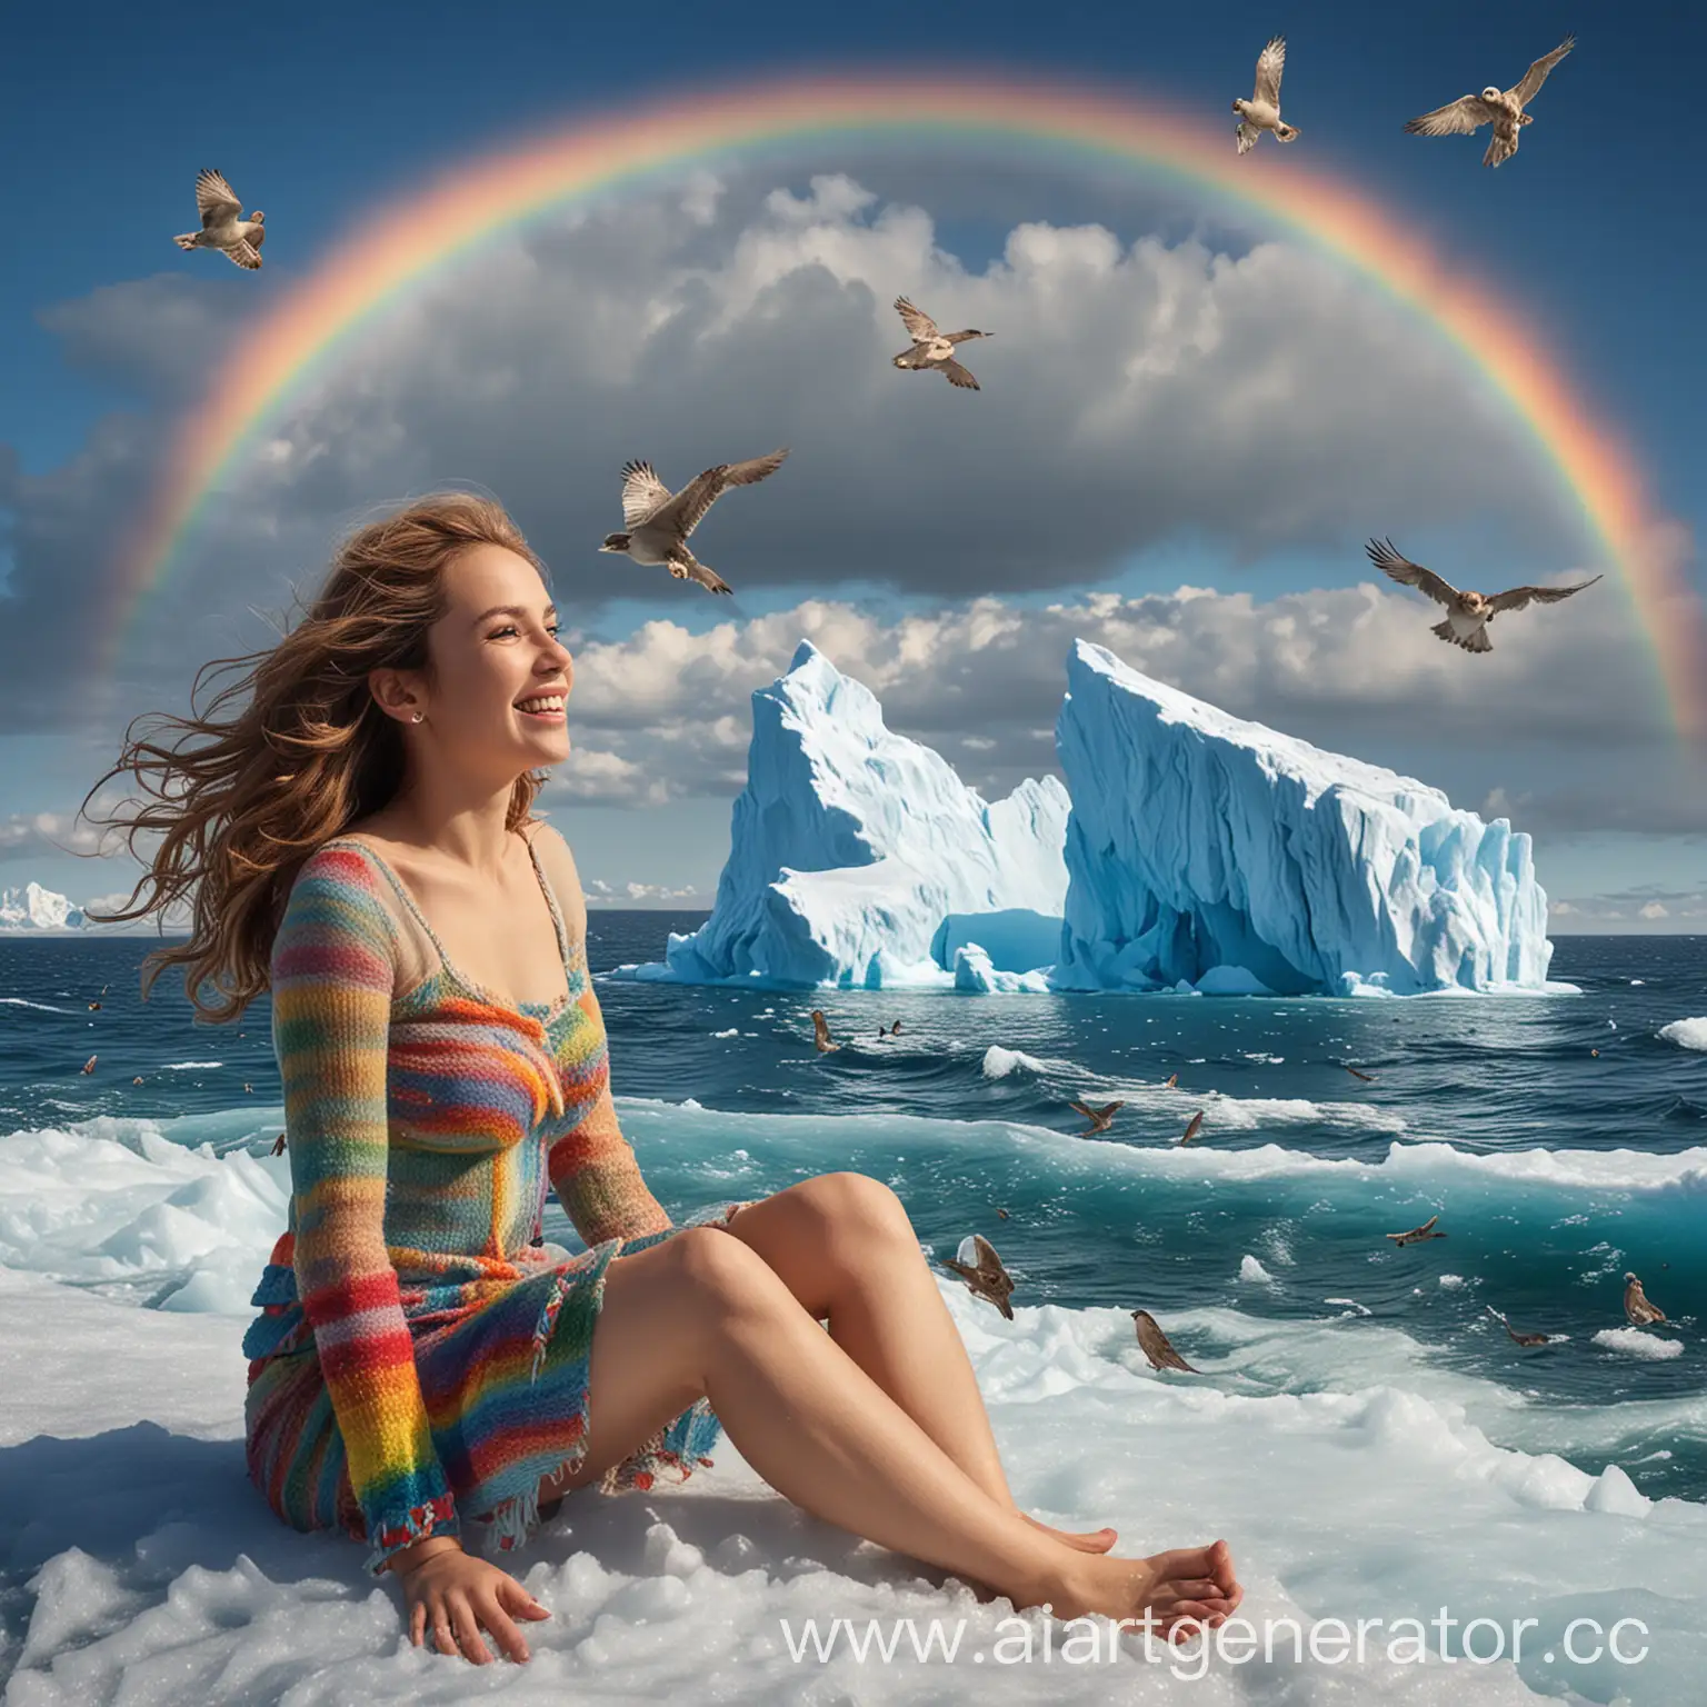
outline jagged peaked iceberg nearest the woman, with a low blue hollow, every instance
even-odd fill
[[[1011,987],[1060,949],[1069,809],[1055,777],[985,802],[802,640],[753,695],[712,917],[628,976]]]

